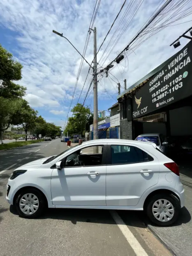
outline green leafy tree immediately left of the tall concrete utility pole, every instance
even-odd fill
[[[72,117],[69,117],[65,133],[69,132],[70,135],[74,133],[83,134],[86,130],[88,119],[91,115],[89,107],[84,107],[82,104],[77,103],[76,106],[71,110]]]

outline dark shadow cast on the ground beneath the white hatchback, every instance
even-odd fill
[[[15,207],[10,206],[10,212],[17,214]],[[148,225],[157,226],[148,219],[143,211],[116,211],[127,226],[138,228],[147,228]],[[102,209],[47,209],[42,216],[37,219],[58,219],[63,221],[71,221],[73,224],[78,222],[116,224],[113,220],[110,210]],[[172,226],[180,226],[183,223],[188,223],[191,220],[191,215],[186,207],[181,209],[178,221]],[[166,227],[165,227],[166,228]]]

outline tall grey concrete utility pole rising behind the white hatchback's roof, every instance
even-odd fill
[[[93,93],[94,93],[94,114],[93,114],[93,138],[98,139],[98,101],[97,101],[97,32],[94,32],[94,61],[93,61]]]

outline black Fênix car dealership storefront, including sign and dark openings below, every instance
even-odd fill
[[[192,42],[119,96],[125,138],[192,136]],[[123,127],[125,126],[125,127]]]

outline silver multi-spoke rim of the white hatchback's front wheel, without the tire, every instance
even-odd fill
[[[23,195],[19,201],[19,207],[21,212],[26,215],[32,215],[37,212],[39,208],[39,199],[36,195],[32,193],[27,193]]]

